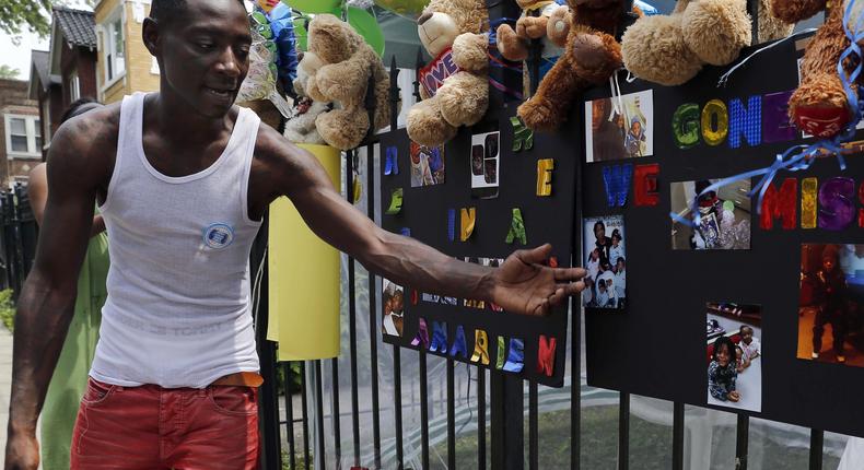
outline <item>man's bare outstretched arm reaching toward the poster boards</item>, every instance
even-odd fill
[[[551,252],[549,245],[515,251],[497,269],[463,262],[376,226],[335,190],[313,155],[271,129],[261,128],[257,151],[270,171],[267,186],[277,191],[271,196],[288,196],[319,237],[397,283],[533,315],[548,313],[584,287],[584,270],[541,265]]]

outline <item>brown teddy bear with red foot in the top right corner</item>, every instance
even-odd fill
[[[777,15],[787,22],[805,20],[825,10],[827,0],[773,0]],[[855,19],[861,14],[859,3],[854,7],[850,31],[854,31]],[[801,84],[789,101],[789,115],[803,131],[831,138],[840,133],[853,116],[837,63],[843,50],[849,47],[849,38],[843,31],[843,14],[847,2],[832,3],[825,24],[807,45],[801,63]],[[861,78],[859,78],[861,80]],[[856,90],[853,86],[852,92]],[[857,95],[854,96],[857,99]]]

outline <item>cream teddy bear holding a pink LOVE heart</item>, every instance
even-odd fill
[[[440,145],[459,126],[472,126],[489,106],[486,0],[431,0],[418,19],[420,42],[434,57],[422,70],[423,101],[408,113],[408,136],[428,146]]]

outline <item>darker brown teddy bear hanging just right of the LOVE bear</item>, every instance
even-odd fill
[[[605,82],[621,67],[621,48],[615,34],[623,4],[623,0],[568,0],[571,14],[564,54],[537,93],[517,110],[528,128],[557,129],[580,90]]]

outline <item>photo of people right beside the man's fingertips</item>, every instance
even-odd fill
[[[584,220],[586,256],[582,304],[588,308],[622,310],[627,307],[627,252],[621,215]]]

